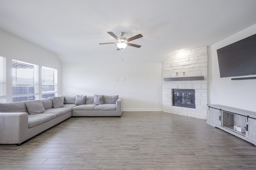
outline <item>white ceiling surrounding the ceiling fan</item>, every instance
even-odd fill
[[[0,28],[62,62],[162,63],[176,49],[212,45],[256,24],[256,0],[0,0]],[[107,31],[129,38],[116,51]]]

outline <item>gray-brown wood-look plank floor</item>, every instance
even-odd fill
[[[21,146],[0,145],[1,170],[256,170],[256,146],[164,112],[71,117]]]

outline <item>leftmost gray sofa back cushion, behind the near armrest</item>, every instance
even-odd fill
[[[0,112],[26,112],[28,113],[25,102],[0,103]]]

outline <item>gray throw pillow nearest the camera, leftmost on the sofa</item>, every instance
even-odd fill
[[[26,101],[25,104],[29,115],[43,113],[45,111],[41,100]]]

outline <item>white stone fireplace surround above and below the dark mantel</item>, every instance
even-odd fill
[[[204,80],[163,81],[163,111],[206,119],[207,47],[182,51],[162,63],[163,78],[204,76]],[[195,89],[196,108],[172,106],[172,89]]]

